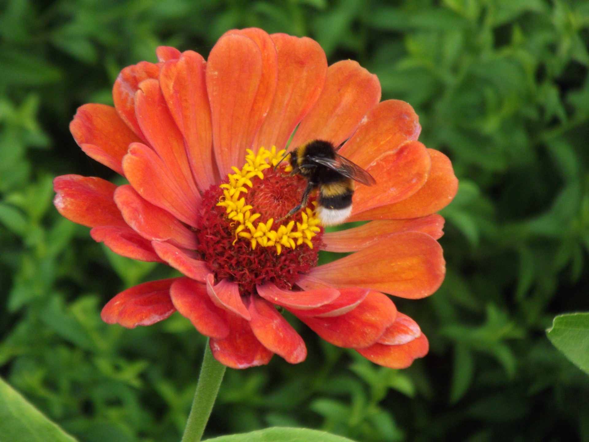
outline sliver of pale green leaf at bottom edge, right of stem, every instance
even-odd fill
[[[207,442],[349,442],[350,440],[324,431],[309,430],[307,428],[275,427],[252,431],[252,433],[216,437],[207,439]]]

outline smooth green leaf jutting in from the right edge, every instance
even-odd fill
[[[554,347],[589,374],[589,313],[557,316],[546,333]]]

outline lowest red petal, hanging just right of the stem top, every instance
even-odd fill
[[[210,340],[211,351],[217,361],[231,368],[249,368],[266,365],[273,353],[264,347],[252,332],[249,321],[225,312],[229,336]]]

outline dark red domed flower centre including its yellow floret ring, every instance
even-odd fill
[[[284,151],[262,147],[248,153],[243,169],[232,167],[235,173],[203,194],[198,252],[217,281],[236,282],[241,295],[266,282],[290,289],[317,265],[323,228],[313,199],[282,219],[299,205],[306,187],[302,177],[288,176],[288,161],[274,170]]]

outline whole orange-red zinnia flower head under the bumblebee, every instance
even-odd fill
[[[388,295],[423,298],[445,273],[444,219],[457,181],[448,158],[417,141],[407,103],[380,101],[375,75],[350,60],[327,67],[309,38],[229,31],[209,60],[160,47],[157,64],[124,68],[114,107],[86,104],[71,131],[82,150],[125,176],[115,186],[78,175],[55,179],[55,206],[129,258],[164,262],[181,278],[119,293],[102,319],[128,328],[174,311],[210,337],[234,368],[306,357],[287,309],[334,345],[376,364],[411,365],[428,351],[419,326]],[[275,168],[290,146],[343,143],[339,153],[376,185],[357,184],[350,221],[325,233],[305,181]],[[317,266],[319,249],[353,252]]]

